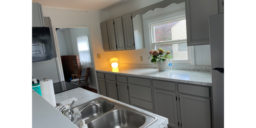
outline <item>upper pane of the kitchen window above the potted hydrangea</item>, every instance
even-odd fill
[[[186,39],[186,20],[154,26],[155,42]]]

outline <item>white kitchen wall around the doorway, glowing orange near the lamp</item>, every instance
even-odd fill
[[[43,14],[45,17],[51,18],[52,26],[90,26],[91,27],[91,41],[94,45],[94,56],[97,58],[97,54],[103,54],[102,59],[95,59],[96,69],[109,67],[109,63],[106,62],[106,58],[114,57],[113,52],[104,53],[100,22],[109,19],[107,12],[99,11],[79,11],[79,10],[63,10],[53,8],[43,8]],[[55,31],[55,30],[53,30]],[[54,35],[56,40],[56,37]],[[41,61],[32,63],[32,76],[42,80],[43,78],[53,79],[53,81],[59,82],[57,63],[54,58],[50,61]],[[45,70],[45,68],[49,70]],[[90,73],[94,72],[90,70]]]

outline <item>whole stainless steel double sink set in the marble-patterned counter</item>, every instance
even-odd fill
[[[80,110],[84,105],[91,102],[98,102],[101,107],[90,106],[81,113],[82,119],[89,118],[85,120],[88,128],[145,128],[157,120],[155,116],[103,97],[72,107],[72,113],[75,107]],[[63,111],[63,113],[65,116],[68,115],[68,110]]]

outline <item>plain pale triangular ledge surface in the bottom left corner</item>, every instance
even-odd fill
[[[77,126],[32,89],[32,128],[77,128]]]

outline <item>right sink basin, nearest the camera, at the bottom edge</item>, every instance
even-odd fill
[[[105,116],[89,122],[88,128],[138,128],[144,125],[146,118],[126,109],[112,111]]]

